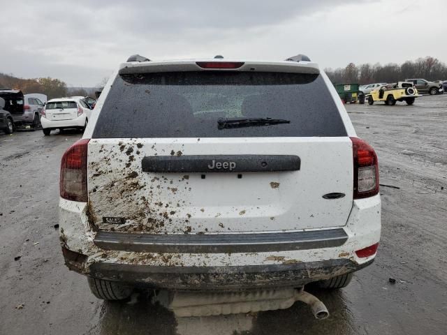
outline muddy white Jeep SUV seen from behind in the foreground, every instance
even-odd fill
[[[66,265],[101,299],[326,288],[371,264],[379,169],[310,61],[133,61],[61,163]]]

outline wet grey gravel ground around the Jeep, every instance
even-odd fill
[[[339,292],[312,291],[331,313],[179,318],[145,292],[106,303],[68,271],[57,230],[59,161],[80,137],[0,133],[0,334],[447,334],[447,94],[413,106],[347,105],[379,156],[379,255]],[[394,278],[392,284],[388,280]]]

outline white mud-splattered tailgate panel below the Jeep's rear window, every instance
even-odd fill
[[[278,155],[296,156],[300,167],[272,172],[242,167],[228,172],[231,161],[223,165],[222,155],[231,155],[234,161],[252,155],[273,160]],[[143,171],[144,159],[160,156],[171,161],[191,158],[190,167],[206,156],[208,170],[218,172],[197,167],[173,171],[168,165],[156,172]],[[101,230],[188,233],[329,228],[346,224],[353,202],[349,137],[92,139],[88,157],[89,214]],[[323,198],[328,193],[342,195]]]

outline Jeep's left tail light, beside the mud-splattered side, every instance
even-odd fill
[[[62,156],[59,181],[61,198],[87,202],[88,144],[88,139],[78,140]]]

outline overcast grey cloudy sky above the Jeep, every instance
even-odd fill
[[[285,59],[323,67],[447,61],[447,1],[0,0],[0,72],[91,87],[131,54]]]

